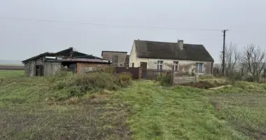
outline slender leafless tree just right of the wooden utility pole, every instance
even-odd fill
[[[221,62],[223,62],[223,57],[220,57]],[[237,50],[236,43],[230,43],[225,46],[225,74],[228,75],[230,72],[234,71],[235,65],[239,62],[239,52]]]

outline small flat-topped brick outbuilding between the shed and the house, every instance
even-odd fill
[[[118,56],[118,62],[113,62],[113,58],[115,55]],[[125,66],[125,59],[127,57],[127,53],[125,52],[103,52],[102,53],[102,58],[103,59],[108,59],[113,62],[114,65],[116,66]]]

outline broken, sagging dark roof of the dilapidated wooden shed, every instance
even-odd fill
[[[95,57],[93,55],[87,55],[87,54],[82,53],[82,52],[77,52],[77,51],[73,50],[73,48],[67,48],[67,49],[61,50],[59,52],[44,52],[44,53],[41,53],[40,55],[36,55],[34,57],[30,57],[29,59],[25,59],[22,61],[22,63],[29,62],[33,59],[39,59],[43,56],[47,56],[47,57],[55,57],[57,55],[70,56],[71,53],[72,53],[73,58],[102,59],[100,57]]]

